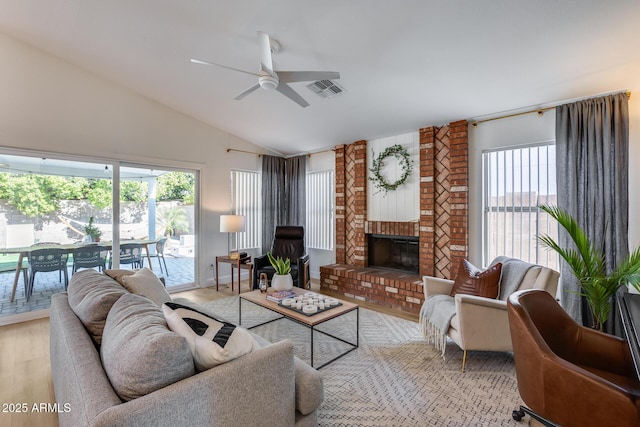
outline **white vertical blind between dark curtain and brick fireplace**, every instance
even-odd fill
[[[333,250],[334,184],[333,171],[307,173],[307,247]]]

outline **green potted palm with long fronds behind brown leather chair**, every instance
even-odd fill
[[[562,248],[549,235],[538,236],[545,246],[557,252],[571,268],[580,284],[580,295],[585,297],[591,309],[592,327],[602,331],[618,289],[631,284],[640,290],[640,248],[636,248],[607,274],[602,249],[591,242],[567,211],[551,205],[541,205],[540,209],[555,219],[573,240],[574,248]]]

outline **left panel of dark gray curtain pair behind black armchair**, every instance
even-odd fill
[[[276,225],[286,224],[286,169],[286,159],[262,156],[263,254],[271,250]]]

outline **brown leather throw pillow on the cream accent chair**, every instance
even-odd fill
[[[468,294],[495,299],[500,292],[501,273],[501,263],[482,271],[466,259],[463,259],[460,261],[458,275],[453,282],[450,295]]]

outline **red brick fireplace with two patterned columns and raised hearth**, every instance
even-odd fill
[[[467,122],[420,129],[420,218],[367,221],[367,142],[336,147],[336,264],[320,267],[320,287],[418,313],[422,276],[455,277],[468,250]],[[369,267],[368,236],[417,237],[419,273]]]

